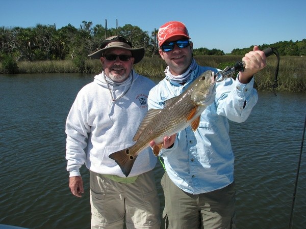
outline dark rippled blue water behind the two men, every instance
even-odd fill
[[[73,196],[68,187],[65,120],[78,91],[92,79],[82,74],[0,75],[0,224],[90,228],[85,166],[83,197]],[[305,101],[305,93],[275,97],[261,92],[249,119],[230,123],[238,228],[288,228]],[[305,167],[302,155],[293,228],[306,224]],[[162,211],[163,168],[158,164],[155,170]]]

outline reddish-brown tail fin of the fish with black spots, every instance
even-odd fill
[[[132,167],[137,158],[137,155],[133,156],[129,152],[130,152],[129,148],[126,148],[124,150],[112,153],[109,156],[109,158],[117,162],[125,177],[129,176],[129,174],[131,173]]]

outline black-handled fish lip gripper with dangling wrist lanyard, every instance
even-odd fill
[[[279,69],[279,53],[277,51],[276,48],[267,48],[264,49],[263,52],[265,53],[266,57],[275,54],[277,57],[277,66],[275,69],[275,75],[274,75],[274,84],[272,85],[272,90],[274,95],[276,96],[276,93],[274,92],[274,89],[278,87],[278,80],[277,80],[277,76],[278,76],[278,69]],[[226,67],[223,71],[218,72],[216,75],[221,75],[221,78],[219,80],[217,80],[217,82],[221,82],[223,81],[225,78],[229,78],[231,77],[234,73],[240,72],[244,70],[245,67],[245,63],[244,62],[240,62],[238,61],[234,66],[232,67]]]

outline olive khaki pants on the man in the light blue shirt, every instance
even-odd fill
[[[212,192],[193,195],[177,187],[164,174],[165,228],[236,228],[235,183]]]

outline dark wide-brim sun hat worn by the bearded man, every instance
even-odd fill
[[[127,41],[125,38],[121,36],[113,36],[107,38],[99,47],[99,50],[88,55],[93,59],[100,59],[103,56],[105,50],[109,48],[123,48],[130,50],[132,52],[132,56],[135,59],[134,64],[140,62],[144,56],[144,48],[133,48],[132,43]]]

